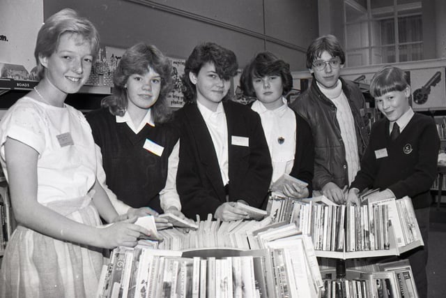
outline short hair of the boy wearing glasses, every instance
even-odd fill
[[[341,64],[346,63],[346,54],[342,50],[339,40],[336,36],[328,34],[319,36],[309,45],[307,49],[307,68],[312,68],[313,62],[321,57],[324,51],[327,51],[332,57],[339,57]]]

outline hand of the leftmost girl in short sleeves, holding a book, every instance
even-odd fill
[[[104,228],[98,228],[99,247],[113,249],[116,246],[137,245],[140,237],[151,237],[152,232],[139,225],[135,225],[136,217],[125,221],[112,223]]]

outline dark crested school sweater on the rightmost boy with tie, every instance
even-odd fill
[[[396,198],[408,195],[415,209],[429,207],[430,188],[437,174],[440,139],[429,116],[415,113],[396,140],[390,139],[390,121],[380,119],[371,128],[361,170],[351,187],[389,188]]]

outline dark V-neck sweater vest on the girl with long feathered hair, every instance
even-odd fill
[[[146,124],[135,134],[127,124],[116,123],[108,108],[90,112],[86,119],[102,152],[107,186],[131,207],[151,207],[161,213],[159,193],[166,185],[168,159],[178,141],[176,130],[169,124]],[[144,149],[147,139],[164,147],[161,156]]]

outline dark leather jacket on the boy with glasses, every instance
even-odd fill
[[[370,132],[364,96],[355,83],[339,79],[355,121],[357,149],[361,158],[369,142]],[[307,120],[312,128],[315,147],[314,189],[321,190],[328,182],[334,182],[340,188],[348,185],[346,153],[336,119],[337,109],[318,88],[315,79],[311,87],[300,94],[290,107]]]

